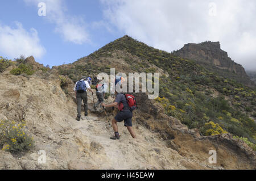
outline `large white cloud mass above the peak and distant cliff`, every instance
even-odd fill
[[[246,69],[256,69],[254,0],[101,0],[105,18],[118,30],[168,52],[186,43],[220,41]],[[216,4],[216,16],[209,4]]]

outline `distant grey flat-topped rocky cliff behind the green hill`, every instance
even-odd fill
[[[220,42],[206,41],[200,44],[185,44],[183,48],[174,52],[177,56],[194,60],[211,71],[236,79],[247,86],[254,86],[242,65],[234,62],[228,53],[221,49]]]

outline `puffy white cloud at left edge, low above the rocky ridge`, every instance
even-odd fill
[[[0,24],[0,53],[10,58],[20,55],[41,58],[46,49],[40,45],[38,32],[34,28],[26,31],[21,23],[16,22],[15,28]]]

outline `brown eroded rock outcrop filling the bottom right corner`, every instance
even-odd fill
[[[216,151],[217,166],[224,169],[256,169],[256,155],[242,141],[233,139],[230,134],[198,137],[187,141],[176,141],[179,153],[186,157],[203,161],[209,151]]]

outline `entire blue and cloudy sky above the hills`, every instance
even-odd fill
[[[10,59],[67,64],[127,34],[168,52],[220,41],[234,61],[256,70],[255,0],[11,0],[0,7],[0,56]]]

